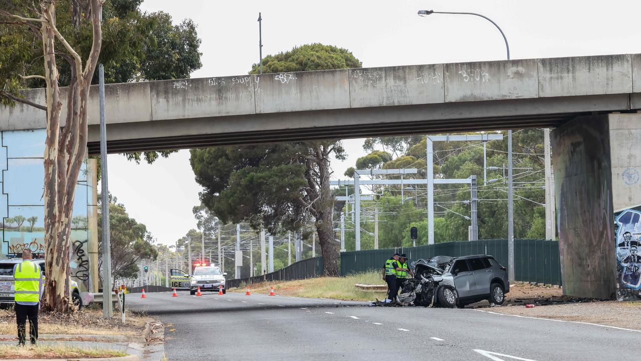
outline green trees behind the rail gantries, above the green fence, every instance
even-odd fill
[[[406,153],[388,161],[383,168],[419,168],[416,177],[425,177],[426,141],[424,136],[415,144],[406,146]],[[381,146],[379,141],[372,142]],[[388,143],[389,144],[389,143]],[[513,159],[515,168],[514,229],[517,238],[544,238],[545,202],[543,132],[537,129],[520,130],[513,134]],[[488,170],[487,186],[483,185],[483,145],[479,142],[435,142],[435,178],[468,178],[476,175],[478,184],[478,236],[479,239],[506,238],[507,236],[507,179],[503,178],[503,166],[507,162],[507,139],[487,143],[487,165],[497,167]],[[366,150],[376,150],[368,148]],[[507,172],[505,171],[507,174]],[[405,177],[409,178],[410,175]],[[394,178],[389,176],[388,178]],[[397,177],[396,177],[397,178]],[[505,183],[504,183],[505,182]],[[379,210],[379,247],[412,245],[410,228],[417,227],[417,245],[428,242],[426,188],[419,186],[417,192],[404,191],[401,201],[399,186],[385,186],[385,193],[378,199],[362,202],[363,222],[361,242],[363,249],[373,247],[373,209]],[[336,193],[344,195],[344,188]],[[415,194],[418,199],[415,199]],[[408,197],[412,197],[409,200]],[[470,188],[462,184],[439,184],[435,186],[435,242],[462,241],[468,238],[470,220]],[[341,207],[344,206],[341,204]],[[339,209],[340,211],[340,209]],[[458,213],[458,214],[457,214]],[[353,224],[346,217],[345,233],[347,249],[354,249]]]

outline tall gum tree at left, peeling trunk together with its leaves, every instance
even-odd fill
[[[87,152],[89,87],[101,51],[103,4],[101,0],[0,0],[0,48],[3,49],[0,53],[4,53],[0,55],[0,76],[4,84],[0,95],[5,101],[8,98],[27,103],[47,113],[44,152],[47,292],[43,306],[56,312],[70,310],[72,210],[76,180]],[[84,53],[77,51],[63,35],[77,32],[85,33],[90,39],[90,49]],[[32,58],[37,48],[40,56]],[[65,96],[59,85],[58,63],[61,61],[67,62],[70,70]],[[26,101],[15,91],[21,81],[30,79],[44,80],[45,105]],[[60,119],[63,107],[64,122]]]

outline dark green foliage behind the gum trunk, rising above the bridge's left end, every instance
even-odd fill
[[[0,1],[3,4],[6,1]],[[17,3],[17,1],[11,1]],[[69,44],[86,58],[91,50],[90,26],[72,25],[70,1],[58,2],[57,24]],[[140,80],[168,80],[189,78],[200,69],[201,53],[196,24],[185,19],[172,24],[171,15],[165,12],[142,12],[138,6],[142,0],[112,0],[103,6],[102,51],[99,62],[104,65],[107,84],[135,82]],[[28,13],[28,2],[22,6]],[[7,5],[8,6],[8,5]],[[2,8],[3,6],[0,6]],[[37,40],[37,39],[36,39]],[[12,105],[22,97],[20,89],[44,87],[44,80],[23,80],[21,75],[44,75],[42,44],[29,36],[28,28],[17,28],[0,22],[0,102]],[[66,53],[60,45],[61,56]],[[69,85],[71,66],[62,61],[60,86]],[[92,84],[97,84],[94,74]],[[176,151],[137,152],[126,154],[129,160],[140,163],[142,159],[153,163],[158,157],[167,157]]]

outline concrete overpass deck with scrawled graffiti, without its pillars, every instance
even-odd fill
[[[641,108],[640,72],[641,54],[628,54],[110,84],[108,150],[556,127]],[[97,93],[90,154],[99,152]],[[26,96],[44,103],[44,89]],[[26,105],[0,110],[1,129],[45,121]]]

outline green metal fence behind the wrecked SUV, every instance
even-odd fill
[[[502,265],[508,265],[507,240],[478,240],[471,242],[445,242],[397,249],[342,252],[340,275],[382,269],[385,260],[394,252],[406,253],[410,261],[433,256],[469,256],[489,254]],[[514,240],[515,279],[517,281],[561,285],[561,266],[558,241]]]

